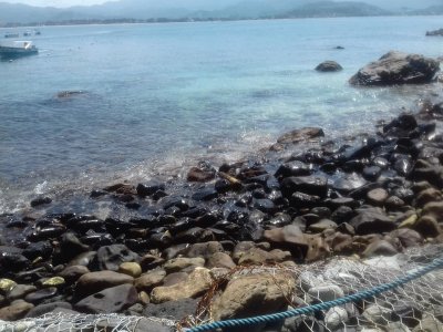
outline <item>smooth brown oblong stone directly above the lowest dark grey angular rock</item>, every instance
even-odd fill
[[[90,272],[80,277],[75,284],[75,295],[84,298],[106,288],[124,283],[132,284],[134,278],[114,271]]]

